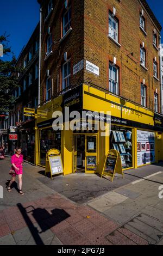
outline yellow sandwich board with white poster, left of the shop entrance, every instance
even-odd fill
[[[51,172],[51,178],[53,175],[64,173],[64,168],[62,164],[61,154],[58,149],[50,149],[46,154],[46,173]]]

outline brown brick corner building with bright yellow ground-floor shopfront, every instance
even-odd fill
[[[77,169],[101,173],[109,149],[120,152],[124,169],[162,160],[161,25],[147,2],[38,2],[39,110],[47,112],[47,119],[38,115],[36,120],[36,164],[45,166],[51,148],[61,150],[65,174]],[[111,111],[110,136],[54,132],[52,113],[64,112],[65,106]]]

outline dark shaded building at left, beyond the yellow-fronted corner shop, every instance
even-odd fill
[[[39,84],[39,23],[32,36],[23,47],[18,56],[16,65],[23,68],[21,74],[17,74],[20,87],[12,92],[16,97],[16,104],[13,111],[5,120],[5,127],[10,131],[10,126],[17,127],[17,140],[10,141],[9,151],[15,147],[21,147],[24,159],[34,163],[35,152],[35,119],[24,115],[24,107],[36,108],[38,105],[38,84]]]

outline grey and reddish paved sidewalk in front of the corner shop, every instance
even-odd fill
[[[162,163],[110,182],[82,173],[51,180],[24,162],[24,196],[17,182],[7,191],[9,169],[0,162],[0,245],[163,245]]]

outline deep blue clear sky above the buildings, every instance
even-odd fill
[[[16,57],[27,44],[39,22],[39,4],[37,0],[0,0],[0,35],[9,34],[9,45]],[[163,27],[163,1],[147,0],[158,21]],[[163,42],[163,31],[161,32]],[[6,60],[11,57],[5,57]],[[5,60],[4,59],[4,60]]]

